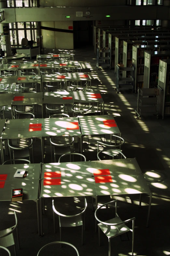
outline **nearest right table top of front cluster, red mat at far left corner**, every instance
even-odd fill
[[[124,195],[150,193],[143,174],[95,176],[96,195]]]

